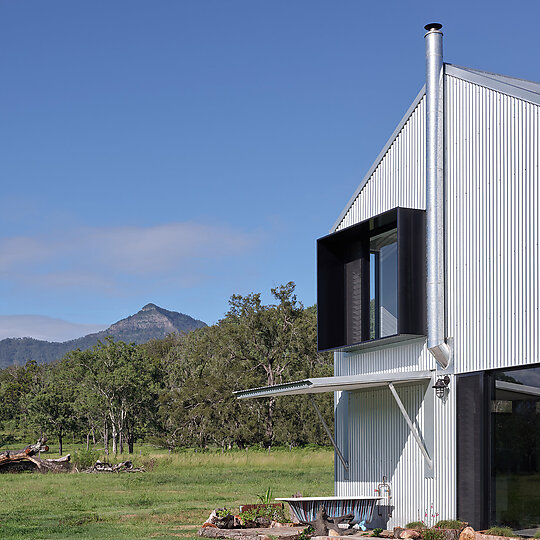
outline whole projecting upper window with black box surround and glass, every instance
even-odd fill
[[[319,350],[425,335],[425,212],[395,208],[317,241]]]

